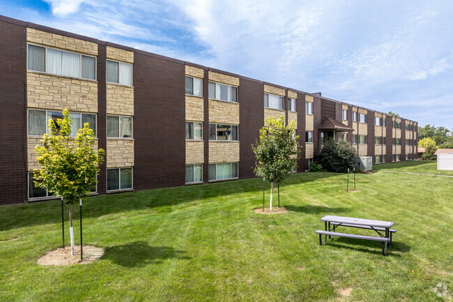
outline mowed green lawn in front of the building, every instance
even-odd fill
[[[431,173],[434,165],[376,167]],[[345,174],[295,174],[280,186],[290,211],[278,215],[253,212],[262,179],[91,197],[84,243],[105,255],[85,265],[36,263],[61,246],[60,201],[0,207],[0,301],[442,301],[439,282],[451,298],[453,179],[356,180],[358,192],[346,192]],[[394,244],[385,257],[372,241],[319,246],[314,231],[328,214],[391,220]],[[78,206],[74,216],[79,243]],[[65,218],[68,230],[66,208]]]

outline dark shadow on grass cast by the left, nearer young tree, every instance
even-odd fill
[[[185,251],[175,250],[167,246],[149,246],[144,241],[135,241],[121,246],[112,246],[105,249],[101,259],[107,259],[114,264],[125,267],[158,264],[164,259],[191,259],[185,256]]]

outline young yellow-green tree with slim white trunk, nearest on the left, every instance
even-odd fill
[[[78,130],[75,139],[70,138],[71,125],[72,119],[66,108],[62,120],[49,120],[47,128],[50,135],[43,135],[43,146],[36,146],[40,169],[35,169],[33,176],[36,186],[47,188],[68,204],[71,255],[75,255],[72,204],[89,196],[91,188],[95,188],[105,152],[93,149],[95,137],[89,123]]]

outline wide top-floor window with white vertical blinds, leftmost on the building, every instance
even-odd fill
[[[49,47],[29,45],[29,70],[95,80],[96,58]]]

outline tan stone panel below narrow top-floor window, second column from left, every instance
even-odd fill
[[[134,87],[107,84],[107,114],[134,115]]]

